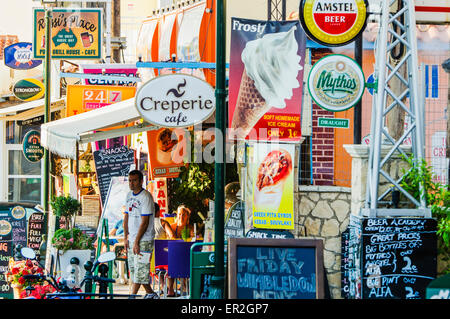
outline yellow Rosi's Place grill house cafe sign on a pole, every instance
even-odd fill
[[[100,59],[102,44],[101,9],[52,10],[51,55],[54,59]],[[34,9],[35,58],[45,58],[45,12]]]

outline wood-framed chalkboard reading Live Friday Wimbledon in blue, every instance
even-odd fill
[[[323,299],[323,243],[318,239],[228,240],[231,299]]]

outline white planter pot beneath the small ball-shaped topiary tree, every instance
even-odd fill
[[[90,249],[75,249],[58,251],[57,249],[52,249],[52,255],[54,256],[56,262],[56,274],[62,278],[67,278],[69,276],[68,269],[70,268],[70,260],[73,257],[78,258],[80,263],[75,265],[77,271],[75,273],[75,280],[79,284],[84,278],[86,270],[84,269],[84,264],[86,261],[91,260],[92,250]],[[58,261],[59,259],[59,261]],[[83,287],[84,291],[84,287]]]

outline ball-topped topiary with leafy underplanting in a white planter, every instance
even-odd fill
[[[70,196],[58,196],[54,197],[50,204],[54,214],[65,219],[65,228],[58,229],[51,241],[57,267],[61,270],[62,277],[67,277],[69,274],[66,269],[71,265],[70,261],[77,259],[79,267],[77,281],[81,281],[85,273],[83,265],[90,260],[94,249],[94,236],[88,236],[74,227],[75,216],[81,208],[77,199]]]

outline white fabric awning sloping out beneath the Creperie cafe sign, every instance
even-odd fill
[[[77,143],[95,142],[147,131],[150,124],[142,123],[131,127],[94,132],[123,126],[141,119],[134,103],[135,99],[132,98],[43,124],[41,125],[41,145],[52,153],[76,159]]]

